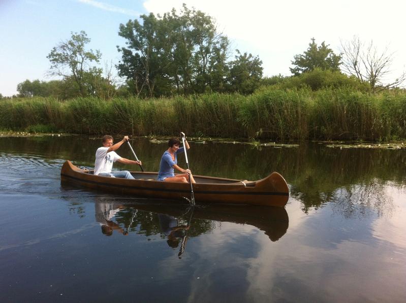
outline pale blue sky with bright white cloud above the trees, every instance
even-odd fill
[[[103,54],[101,67],[117,64],[116,46],[125,43],[118,36],[120,23],[179,9],[182,3],[214,17],[232,50],[258,55],[264,76],[291,75],[293,57],[307,49],[311,38],[339,53],[340,41],[354,36],[372,41],[379,52],[393,53],[393,78],[405,70],[406,3],[400,1],[0,0],[0,93],[16,94],[17,84],[26,79],[55,79],[48,76],[46,56],[71,32],[87,33],[88,47]]]

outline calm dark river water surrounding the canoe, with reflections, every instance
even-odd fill
[[[291,197],[285,209],[190,209],[61,186],[63,162],[92,166],[99,146],[0,139],[0,301],[406,300],[405,149],[192,142],[196,174],[277,171]],[[165,143],[133,147],[145,170],[158,170]],[[118,154],[132,158],[125,145]]]

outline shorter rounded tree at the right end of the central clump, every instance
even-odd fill
[[[230,62],[230,90],[242,94],[253,93],[262,78],[262,61],[258,56],[241,54],[239,50],[237,54],[235,60]]]

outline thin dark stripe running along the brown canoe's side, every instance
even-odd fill
[[[142,189],[142,190],[150,190],[150,191],[168,191],[168,192],[183,192],[183,193],[190,193],[190,190],[180,190],[180,189],[166,189],[166,188],[150,188],[150,187],[140,187],[140,186],[130,186],[130,185],[115,185],[111,183],[103,183],[93,180],[85,180],[82,178],[77,178],[65,174],[61,174],[67,178],[79,180],[81,182],[87,182],[92,184],[100,184],[104,186],[111,186],[111,187],[126,187],[126,188],[133,188],[133,189]],[[137,179],[136,179],[137,180]],[[276,195],[276,196],[289,196],[288,192],[240,192],[240,191],[194,191],[194,193],[201,193],[201,194],[245,194],[245,195]]]

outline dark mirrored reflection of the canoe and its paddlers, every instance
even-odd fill
[[[140,199],[143,203],[128,203],[127,199],[107,199],[95,201],[96,221],[102,226],[105,235],[114,231],[127,235],[135,232],[158,235],[167,239],[170,247],[179,247],[185,238],[197,237],[210,233],[216,228],[215,222],[231,222],[248,224],[264,231],[274,242],[286,233],[289,227],[289,217],[285,208],[261,206],[230,206],[210,205],[185,207],[171,204],[165,200],[151,201]],[[138,201],[138,199],[136,199]],[[147,203],[145,203],[145,200]]]

